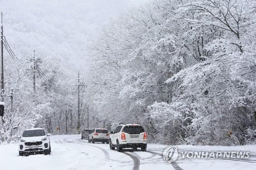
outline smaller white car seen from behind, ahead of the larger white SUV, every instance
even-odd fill
[[[109,143],[110,141],[110,135],[108,130],[106,129],[93,129],[88,137],[89,143],[95,143],[95,142],[102,142],[102,143]]]

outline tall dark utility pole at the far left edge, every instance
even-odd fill
[[[3,28],[3,13],[1,12],[1,56],[0,56],[0,76],[1,76],[1,82],[0,82],[0,102],[1,102],[1,107],[0,107],[0,121],[4,123],[4,112],[5,112],[5,103],[4,103],[4,28]]]

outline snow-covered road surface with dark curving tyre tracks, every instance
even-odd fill
[[[255,169],[256,146],[198,147],[179,145],[184,151],[250,151],[248,160],[183,159],[166,164],[161,157],[166,145],[148,144],[148,152],[124,149],[119,153],[109,144],[88,143],[80,135],[51,136],[51,155],[18,156],[17,144],[0,145],[1,169]]]

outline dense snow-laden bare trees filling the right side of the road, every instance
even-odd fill
[[[93,48],[95,107],[151,141],[255,141],[256,2],[153,1],[124,13]]]

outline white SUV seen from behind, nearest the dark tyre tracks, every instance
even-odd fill
[[[116,127],[114,132],[110,132],[110,149],[121,152],[123,148],[137,150],[141,148],[146,151],[147,134],[144,128],[138,124],[126,124]]]

